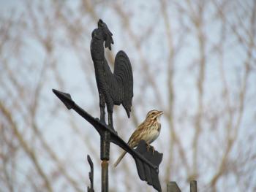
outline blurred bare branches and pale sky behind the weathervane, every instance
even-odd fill
[[[99,136],[52,88],[99,117],[90,55],[102,18],[134,72],[132,117],[114,109],[125,140],[148,110],[163,110],[153,143],[159,179],[189,191],[256,191],[255,1],[0,1],[0,191],[100,190]],[[121,150],[111,145],[110,164]],[[127,155],[110,191],[154,191]]]

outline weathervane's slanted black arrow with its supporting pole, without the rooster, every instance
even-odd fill
[[[141,180],[145,180],[148,185],[153,185],[157,191],[161,191],[161,185],[158,179],[159,164],[162,161],[162,153],[148,150],[146,142],[140,141],[138,147],[134,150],[123,139],[118,137],[115,131],[110,129],[98,118],[93,118],[89,113],[83,110],[75,101],[72,100],[69,93],[63,93],[53,89],[53,93],[65,104],[67,109],[75,110],[80,116],[86,119],[98,131],[100,135],[100,159],[102,160],[102,191],[108,191],[108,160],[110,152],[110,142],[115,143],[127,153],[135,158],[138,174]]]

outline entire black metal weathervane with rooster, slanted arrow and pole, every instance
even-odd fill
[[[122,104],[129,117],[132,107],[133,97],[133,77],[132,66],[129,58],[124,51],[120,50],[116,54],[113,73],[108,66],[105,58],[105,48],[111,50],[113,44],[112,33],[108,26],[99,20],[98,27],[91,34],[91,58],[94,61],[95,76],[97,88],[99,91],[100,120],[89,115],[75,101],[72,100],[69,93],[64,93],[53,89],[53,93],[65,104],[68,110],[72,109],[78,112],[80,116],[86,119],[98,131],[100,135],[100,159],[102,160],[102,192],[108,191],[108,161],[110,159],[110,142],[127,151],[135,159],[138,175],[141,180],[145,180],[148,185],[152,185],[157,191],[162,191],[159,183],[159,164],[162,161],[162,153],[157,150],[148,150],[148,145],[141,140],[136,149],[129,147],[127,142],[118,137],[113,128],[113,106]],[[105,47],[104,47],[105,45]],[[105,105],[108,110],[108,125],[105,123]],[[91,158],[89,164],[91,172],[89,174],[91,187],[88,191],[94,191],[93,188],[93,164]]]

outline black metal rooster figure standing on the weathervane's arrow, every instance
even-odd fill
[[[124,51],[116,54],[113,73],[105,58],[105,48],[111,50],[112,33],[99,20],[98,28],[91,34],[91,58],[94,61],[95,76],[99,91],[100,120],[105,123],[105,104],[108,110],[108,125],[113,128],[113,105],[122,104],[129,117],[132,107],[133,77],[132,66]],[[105,48],[104,48],[105,45]]]

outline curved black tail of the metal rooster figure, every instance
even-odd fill
[[[116,75],[118,82],[121,82],[120,86],[121,94],[123,95],[123,106],[129,117],[133,97],[132,65],[127,54],[122,50],[116,54],[113,74]]]

